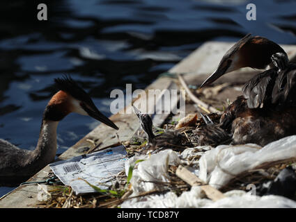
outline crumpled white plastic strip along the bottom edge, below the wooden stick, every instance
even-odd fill
[[[296,202],[283,196],[252,196],[242,190],[232,190],[224,193],[226,198],[216,202],[203,198],[200,187],[194,186],[190,191],[177,196],[173,192],[161,195],[150,195],[141,198],[125,200],[122,208],[283,208],[296,207]]]

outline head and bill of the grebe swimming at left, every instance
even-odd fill
[[[118,127],[95,107],[91,97],[72,78],[65,76],[56,78],[54,81],[59,92],[54,94],[47,104],[43,119],[61,121],[70,112],[76,112],[93,117],[118,130]]]

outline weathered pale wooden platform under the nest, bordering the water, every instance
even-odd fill
[[[169,87],[179,87],[180,83],[176,74],[182,74],[183,78],[190,85],[201,85],[208,75],[212,74],[217,68],[219,61],[224,53],[235,44],[234,42],[205,42],[187,58],[180,61],[175,67],[170,69],[166,75],[161,75],[154,83],[146,87],[148,89],[168,89]],[[283,49],[288,53],[288,57],[291,61],[296,62],[296,46],[295,45],[281,45]],[[237,79],[237,72],[244,73],[239,79]],[[219,78],[216,83],[235,83],[244,84],[252,76],[258,73],[254,69],[244,68],[239,71],[227,74]],[[231,89],[230,89],[231,90]],[[224,94],[219,94],[221,99],[229,99],[233,101],[238,95],[241,94],[240,90],[224,91]],[[223,97],[223,98],[222,98]],[[133,102],[140,103],[139,101],[145,98],[141,96],[139,99],[135,99]],[[131,113],[132,106],[125,107],[126,112]],[[186,112],[192,112],[193,108],[186,107]],[[165,119],[166,116],[162,116],[160,119]],[[116,131],[104,124],[100,124],[97,128],[92,130],[84,138],[80,139],[77,144],[68,148],[65,153],[59,156],[59,160],[67,160],[71,157],[86,154],[90,151],[100,151],[104,148],[112,146],[118,146],[120,142],[129,140],[134,133],[139,129],[139,119],[135,114],[114,114],[110,117],[116,126],[120,130]],[[161,121],[159,121],[159,124]],[[46,180],[48,178],[50,168],[47,165],[44,169],[32,176],[28,182],[36,182]],[[17,187],[10,193],[0,198],[0,208],[9,207],[39,207],[40,201],[38,201],[38,186],[36,185],[22,185]]]

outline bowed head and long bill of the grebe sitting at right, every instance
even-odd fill
[[[220,76],[242,67],[254,69],[265,69],[268,65],[273,67],[271,58],[275,53],[286,54],[281,46],[275,42],[267,40],[265,37],[252,37],[251,34],[248,34],[225,53],[217,70],[203,82],[201,87],[209,85]]]

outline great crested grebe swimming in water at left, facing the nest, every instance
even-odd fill
[[[102,114],[91,97],[70,77],[54,79],[59,92],[52,96],[42,117],[38,144],[33,151],[17,148],[0,139],[0,185],[15,186],[33,176],[56,156],[56,128],[70,112],[88,115],[118,130]]]

